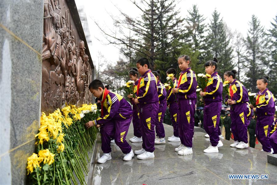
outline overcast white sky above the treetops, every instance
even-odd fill
[[[136,8],[130,0],[75,0],[76,4],[85,5],[87,21],[90,29],[90,36],[92,39],[92,51],[90,54],[97,66],[98,51],[100,51],[106,58],[106,62],[115,63],[119,58],[118,47],[114,45],[106,45],[107,41],[99,28],[95,25],[96,21],[106,31],[113,29],[113,17],[119,16],[119,11],[116,7],[120,8],[124,13],[131,17],[138,17],[140,11]],[[137,1],[139,2],[139,1]],[[249,28],[248,22],[251,20],[251,15],[255,14],[261,21],[261,24],[268,29],[270,22],[273,21],[277,14],[277,0],[181,0],[177,4],[181,8],[181,16],[187,16],[187,10],[192,8],[193,4],[198,5],[200,14],[207,17],[206,22],[208,23],[211,19],[211,14],[217,9],[223,20],[227,23],[227,26],[232,31],[239,31],[244,36],[247,34]],[[98,66],[97,66],[98,67]]]

